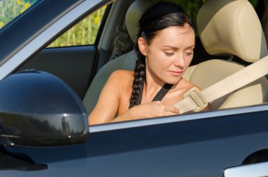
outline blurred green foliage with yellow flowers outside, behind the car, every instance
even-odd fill
[[[4,28],[11,20],[27,11],[30,6],[39,0],[0,0],[0,30]],[[56,0],[55,0],[56,1]],[[175,4],[183,4],[190,16],[195,20],[197,9],[205,3],[206,0],[154,0],[168,1]],[[216,0],[214,0],[216,1]],[[221,0],[219,0],[221,1]],[[249,0],[252,6],[257,5],[258,0]],[[65,32],[61,37],[52,42],[49,47],[63,47],[73,45],[94,44],[97,37],[97,31],[102,21],[105,8],[101,8],[90,16],[81,20],[77,25]]]

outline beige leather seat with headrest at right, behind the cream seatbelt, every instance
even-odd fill
[[[197,15],[197,29],[206,51],[214,56],[234,55],[250,63],[267,56],[260,20],[247,0],[208,0]],[[238,63],[215,58],[191,66],[183,77],[205,89],[242,68]],[[215,100],[212,109],[267,102],[267,90],[266,78],[260,78]]]

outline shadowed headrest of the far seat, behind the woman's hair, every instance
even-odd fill
[[[152,5],[154,5],[152,0],[137,0],[129,6],[128,11],[126,12],[126,29],[133,42],[137,41],[140,17]]]

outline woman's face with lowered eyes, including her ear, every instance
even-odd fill
[[[138,39],[140,51],[145,55],[147,76],[160,84],[176,84],[193,59],[195,32],[190,25],[169,27],[155,35],[147,45]],[[141,44],[141,45],[140,45]],[[142,48],[143,44],[143,48]]]

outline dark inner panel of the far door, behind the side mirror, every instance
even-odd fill
[[[21,66],[19,71],[37,69],[54,74],[83,99],[95,68],[96,54],[97,47],[94,45],[44,49]]]

